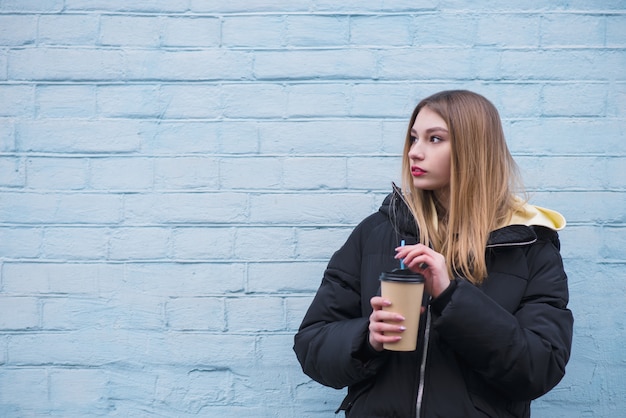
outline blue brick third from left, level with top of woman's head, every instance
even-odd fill
[[[164,110],[159,96],[154,85],[100,86],[97,112],[104,117],[156,117]]]

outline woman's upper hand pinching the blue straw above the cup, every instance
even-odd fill
[[[405,245],[396,248],[396,259],[402,260],[404,265],[424,276],[426,291],[436,298],[450,286],[450,276],[446,260],[442,254],[423,245]]]

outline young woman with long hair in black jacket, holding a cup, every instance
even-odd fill
[[[444,91],[417,105],[402,190],[333,255],[295,336],[308,376],[348,387],[338,412],[528,417],[561,380],[573,327],[556,232],[565,220],[516,197],[518,184],[487,99]],[[383,349],[402,338],[385,332],[405,329],[379,296],[381,272],[399,260],[425,277],[412,352]]]

